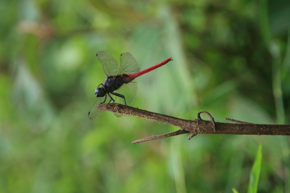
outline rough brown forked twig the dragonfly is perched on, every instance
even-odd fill
[[[146,118],[149,120],[154,120],[157,122],[163,122],[166,124],[171,124],[173,126],[177,126],[182,130],[191,133],[190,137],[193,137],[195,134],[235,134],[235,135],[290,135],[290,125],[269,125],[269,124],[251,124],[248,122],[242,122],[238,120],[229,119],[233,122],[238,122],[242,124],[234,124],[234,123],[220,123],[215,122],[216,131],[213,126],[212,121],[205,120],[184,120],[176,117],[171,117],[168,115],[163,115],[159,113],[153,113],[150,111],[145,111],[141,109],[137,109],[131,106],[125,106],[118,103],[110,104],[106,107],[107,104],[99,104],[97,107],[98,110],[101,111],[111,111],[115,113],[121,113],[123,115],[133,115],[141,118]],[[173,133],[163,134],[152,136],[151,138],[146,137],[144,139],[140,139],[141,141],[148,141],[155,139],[156,137],[162,136],[162,138],[166,137],[166,135],[173,136],[173,134],[180,135],[180,130],[177,130]],[[156,138],[159,139],[159,138]],[[138,141],[138,140],[137,140]],[[141,142],[141,141],[138,141]],[[137,142],[136,142],[137,143]]]

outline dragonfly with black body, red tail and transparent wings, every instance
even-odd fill
[[[97,52],[96,55],[102,63],[104,72],[108,77],[105,79],[104,83],[99,84],[95,89],[95,96],[98,99],[88,113],[89,118],[92,120],[99,117],[103,112],[97,110],[97,106],[100,103],[108,102],[107,107],[113,102],[131,106],[137,91],[137,82],[132,82],[132,80],[173,60],[172,57],[170,57],[149,68],[141,70],[136,59],[129,52],[120,55],[120,66],[117,60],[107,52],[100,51]],[[119,71],[117,71],[118,67]],[[117,117],[121,116],[119,113],[114,114]]]

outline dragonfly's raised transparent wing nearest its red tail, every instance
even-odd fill
[[[139,72],[140,67],[136,59],[129,52],[125,52],[120,56],[120,69],[118,74],[130,74]]]

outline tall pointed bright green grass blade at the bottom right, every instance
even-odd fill
[[[253,168],[250,174],[248,193],[256,193],[258,190],[261,163],[262,163],[262,144],[259,145],[255,163],[253,165]]]

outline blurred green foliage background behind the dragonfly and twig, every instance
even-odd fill
[[[258,145],[258,192],[289,192],[289,137],[187,135],[104,112],[95,54],[141,69],[132,106],[184,119],[199,110],[264,124],[290,121],[289,1],[0,1],[1,192],[246,192]],[[208,119],[206,116],[202,116]]]

